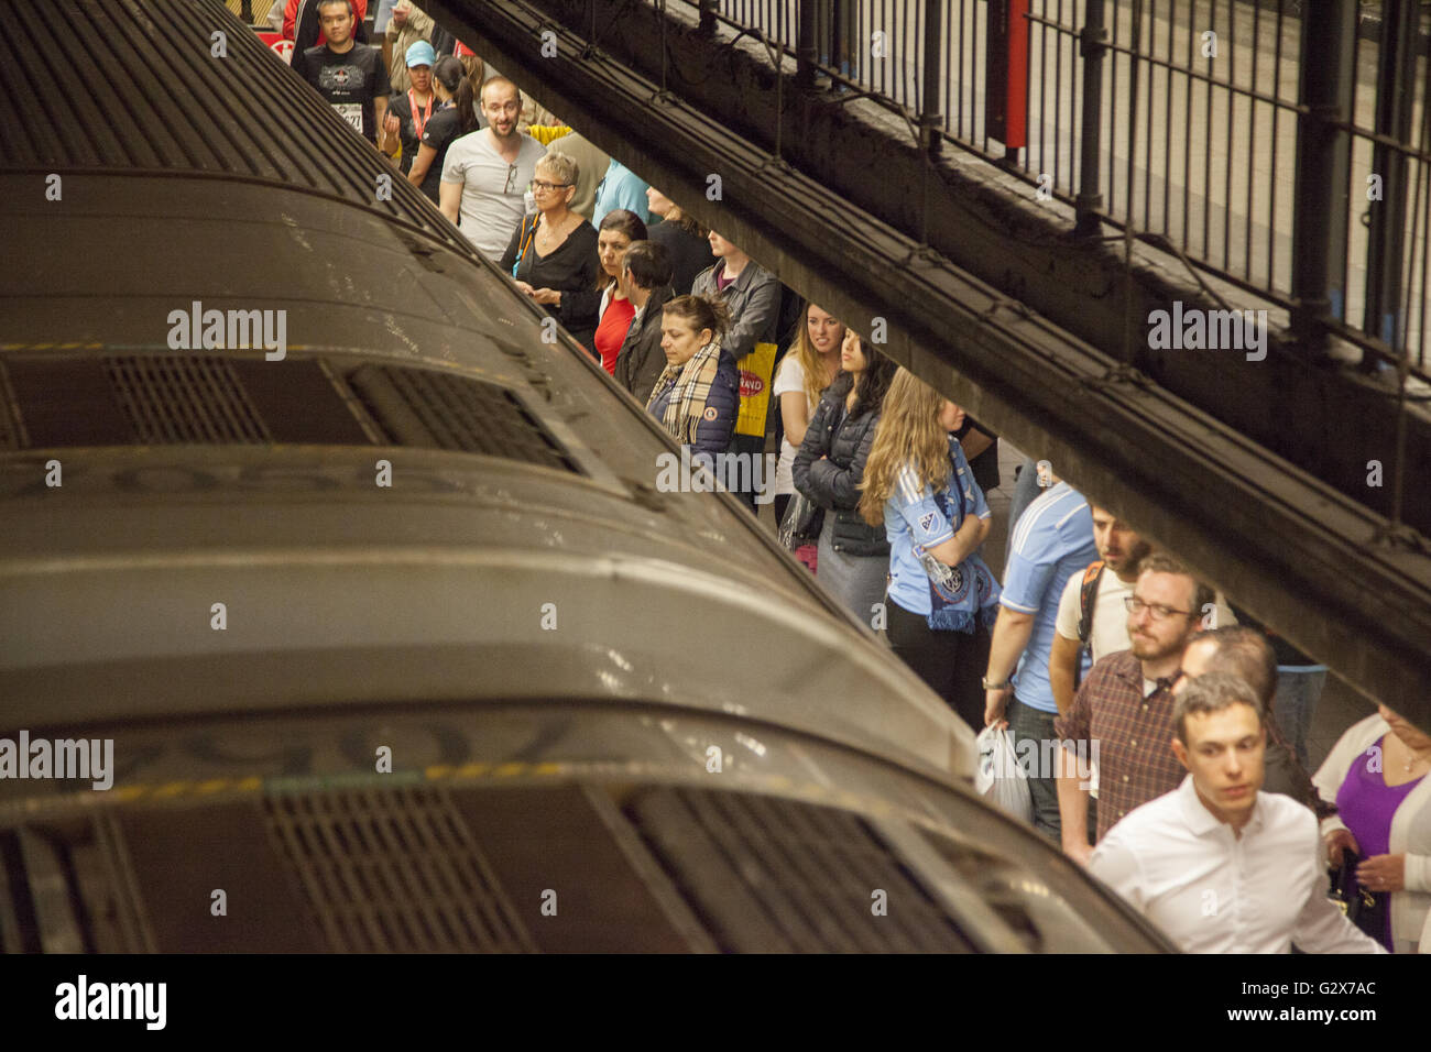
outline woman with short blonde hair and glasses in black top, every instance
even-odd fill
[[[537,215],[527,216],[512,235],[501,268],[517,279],[517,288],[547,308],[588,354],[595,319],[575,316],[574,292],[595,288],[601,263],[597,260],[597,230],[570,205],[577,193],[577,162],[564,153],[548,153],[537,162],[532,196]],[[565,302],[564,302],[565,299]],[[580,303],[575,305],[580,311]]]

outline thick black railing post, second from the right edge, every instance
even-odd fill
[[[1357,4],[1302,7],[1302,69],[1292,189],[1292,332],[1319,356],[1325,322],[1347,313],[1347,179],[1357,56]]]

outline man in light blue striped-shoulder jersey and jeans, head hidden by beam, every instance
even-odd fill
[[[1019,517],[1009,547],[983,684],[985,723],[1007,720],[1015,753],[1029,771],[1033,827],[1058,844],[1059,790],[1052,764],[1059,754],[1053,730],[1059,710],[1049,684],[1049,651],[1063,585],[1098,558],[1093,512],[1078,491],[1059,482]]]

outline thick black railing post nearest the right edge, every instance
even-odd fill
[[[1415,96],[1420,6],[1387,0],[1382,9],[1381,54],[1377,63],[1377,132],[1411,142]],[[1407,246],[1407,155],[1375,143],[1371,170],[1381,176],[1381,200],[1368,202],[1367,321],[1362,328],[1394,348],[1405,339],[1401,316],[1402,255]]]

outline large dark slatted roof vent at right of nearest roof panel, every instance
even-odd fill
[[[736,952],[972,952],[859,817],[778,797],[655,789],[627,809],[708,930]],[[873,906],[883,890],[889,909]]]

